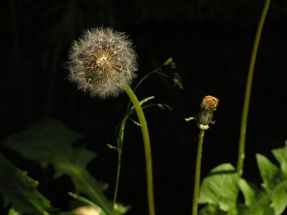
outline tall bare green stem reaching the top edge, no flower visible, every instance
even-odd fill
[[[259,40],[260,40],[264,20],[265,20],[269,5],[270,5],[270,0],[266,0],[262,14],[261,14],[261,18],[259,21],[259,25],[257,28],[257,33],[255,36],[254,46],[253,46],[251,60],[250,60],[247,85],[245,89],[242,118],[241,118],[241,128],[240,128],[239,147],[238,147],[238,161],[237,161],[237,168],[236,168],[237,175],[239,178],[241,178],[243,174],[243,163],[244,163],[244,157],[245,157],[244,148],[245,148],[245,138],[246,138],[246,127],[247,127],[247,118],[248,118],[248,110],[249,110],[249,103],[250,103],[250,94],[251,94],[251,87],[252,87],[254,65],[255,65],[257,50],[259,46]]]

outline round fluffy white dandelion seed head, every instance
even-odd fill
[[[116,97],[136,77],[137,55],[132,41],[111,28],[92,28],[69,51],[69,80],[91,97]]]

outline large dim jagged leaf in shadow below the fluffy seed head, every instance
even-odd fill
[[[8,137],[3,145],[27,159],[39,161],[43,166],[53,164],[56,177],[63,174],[70,176],[76,192],[86,193],[91,201],[109,213],[112,203],[103,193],[103,184],[86,170],[95,153],[72,145],[80,137],[58,120],[46,119]]]

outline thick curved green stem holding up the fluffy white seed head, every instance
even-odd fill
[[[142,111],[140,103],[136,95],[134,94],[133,90],[129,86],[127,86],[125,88],[125,91],[130,97],[135,107],[135,111],[136,111],[139,123],[141,124],[141,133],[142,133],[142,138],[144,139],[145,154],[146,154],[148,203],[149,203],[149,212],[150,212],[149,214],[154,215],[155,210],[154,210],[154,199],[153,199],[152,155],[151,155],[150,135],[149,135],[149,130],[148,130],[148,124],[147,124],[144,111]]]

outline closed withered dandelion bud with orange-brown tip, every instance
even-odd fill
[[[197,126],[201,130],[207,130],[209,128],[209,123],[214,123],[212,121],[213,111],[216,110],[218,105],[218,99],[213,96],[206,96],[202,99],[200,104],[200,111],[197,115]]]

